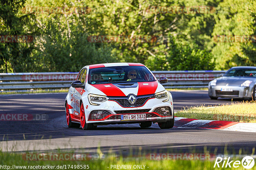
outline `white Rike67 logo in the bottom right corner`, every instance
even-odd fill
[[[221,158],[221,157],[217,157],[214,163],[214,168],[217,167],[234,167],[237,168],[239,166],[243,166],[245,169],[251,169],[254,166],[255,162],[254,159],[251,156],[245,156],[242,161],[240,160],[230,160],[230,157],[225,157],[225,158]]]

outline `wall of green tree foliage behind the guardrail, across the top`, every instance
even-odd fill
[[[216,42],[217,35],[255,35],[255,5],[250,0],[3,0],[0,35],[32,35],[34,40],[0,43],[0,69],[77,71],[84,65],[105,62],[140,62],[152,70],[255,65],[255,43]],[[164,11],[189,6],[211,10]],[[59,10],[43,12],[39,7]],[[68,7],[85,8],[61,11]],[[94,35],[149,35],[152,40],[88,41]]]

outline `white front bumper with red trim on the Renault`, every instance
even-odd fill
[[[99,106],[90,105],[86,109],[86,123],[129,124],[145,121],[164,122],[173,118],[172,96],[169,101],[150,98],[140,107],[124,107],[117,101],[109,100]],[[86,106],[84,106],[86,108]],[[142,120],[122,120],[124,115],[146,114]]]

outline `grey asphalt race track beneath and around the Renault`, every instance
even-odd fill
[[[211,100],[207,91],[173,91],[175,110],[201,104],[231,103],[230,99]],[[205,150],[214,154],[252,153],[256,134],[207,129],[160,129],[157,124],[140,128],[138,124],[98,126],[83,131],[68,128],[64,111],[66,93],[1,95],[0,114],[37,114],[46,120],[0,121],[0,149],[17,152],[102,152],[136,155]],[[233,101],[234,102],[234,101]],[[60,150],[58,150],[60,149]]]

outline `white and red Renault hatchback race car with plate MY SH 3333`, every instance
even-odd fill
[[[105,63],[83,67],[65,99],[68,127],[134,124],[161,129],[174,125],[172,95],[161,85],[168,80],[140,63]]]

